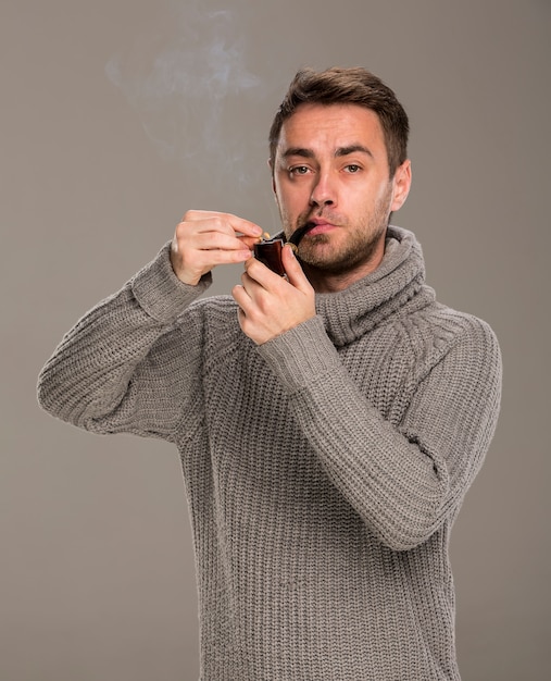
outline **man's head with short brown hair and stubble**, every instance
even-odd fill
[[[271,134],[284,232],[316,290],[337,290],[380,263],[390,214],[408,197],[408,117],[361,69],[300,72]]]

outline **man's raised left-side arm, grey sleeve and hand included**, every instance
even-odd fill
[[[171,246],[65,335],[39,376],[43,409],[100,433],[170,437],[192,391],[202,333],[198,314],[184,329],[173,323],[205,290],[212,268],[250,258],[260,233],[235,215],[188,212]]]

